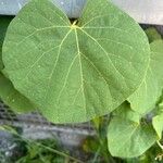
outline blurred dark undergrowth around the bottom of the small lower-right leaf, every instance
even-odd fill
[[[97,122],[100,127],[96,127],[97,136],[90,137],[88,136],[83,142],[83,150],[86,153],[92,154],[92,159],[88,162],[91,163],[161,163],[163,160],[163,151],[156,143],[154,143],[149,150],[147,150],[143,154],[136,158],[113,158],[108,151],[106,145],[106,135],[105,131],[108,128],[108,123],[103,121],[104,118],[100,117]],[[96,122],[96,123],[97,123]],[[96,125],[97,126],[97,125]],[[120,142],[120,140],[118,140]],[[121,143],[121,142],[120,142]]]

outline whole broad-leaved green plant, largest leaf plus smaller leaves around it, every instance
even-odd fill
[[[4,38],[0,96],[14,111],[38,108],[53,123],[110,113],[109,151],[138,156],[163,130],[163,41],[150,42],[106,0],[88,0],[73,23],[50,1],[32,0]]]

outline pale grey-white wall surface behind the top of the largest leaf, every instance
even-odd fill
[[[15,15],[29,0],[0,0],[0,14]],[[70,17],[78,17],[86,0],[52,0]],[[163,0],[112,0],[139,23],[163,25]]]

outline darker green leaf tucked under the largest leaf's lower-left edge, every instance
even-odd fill
[[[35,111],[35,106],[16,91],[12,83],[0,73],[0,99],[16,113]]]

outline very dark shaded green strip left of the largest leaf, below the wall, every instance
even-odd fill
[[[3,43],[3,40],[4,40],[4,36],[5,36],[7,28],[8,28],[9,23],[11,22],[12,18],[13,18],[13,17],[10,17],[10,16],[1,16],[1,15],[0,15],[0,71],[3,68],[2,55],[1,55],[2,43]]]

